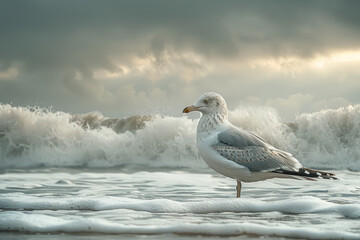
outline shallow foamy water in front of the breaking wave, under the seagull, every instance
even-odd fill
[[[34,169],[0,175],[0,237],[360,238],[360,174],[243,184],[211,171]],[[34,235],[35,234],[35,235]]]

